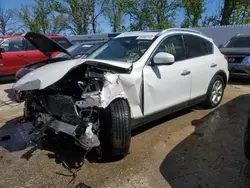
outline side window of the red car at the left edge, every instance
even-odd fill
[[[8,39],[1,44],[1,47],[4,48],[5,52],[24,51],[23,39]]]

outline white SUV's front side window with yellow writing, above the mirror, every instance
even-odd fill
[[[156,53],[159,52],[167,52],[172,54],[175,57],[175,61],[185,59],[185,48],[181,35],[166,38],[156,50]]]

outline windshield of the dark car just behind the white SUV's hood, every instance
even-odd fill
[[[103,45],[103,43],[99,44],[75,44],[67,49],[67,51],[73,56],[73,58],[79,58],[83,55],[88,55],[97,49],[99,46]],[[56,57],[65,57],[68,58],[69,55],[65,53],[60,53]]]

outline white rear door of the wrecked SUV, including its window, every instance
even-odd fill
[[[219,70],[213,44],[199,36],[183,35],[187,60],[192,72],[191,99],[206,94],[210,81]]]

